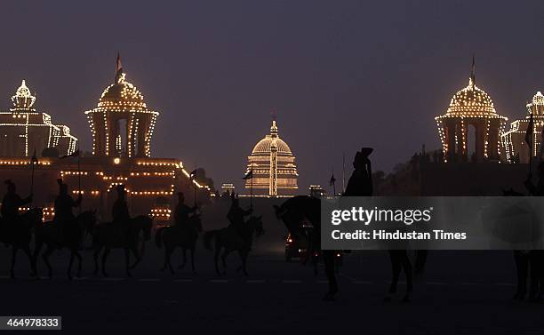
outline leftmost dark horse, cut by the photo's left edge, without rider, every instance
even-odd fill
[[[5,222],[0,220],[0,242],[12,246],[12,266],[10,275],[15,278],[15,259],[17,251],[25,252],[30,263],[30,275],[36,275],[36,262],[30,254],[30,240],[32,240],[32,228],[42,225],[43,211],[41,208],[33,208],[20,216],[19,222]]]

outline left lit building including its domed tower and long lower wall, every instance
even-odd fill
[[[73,195],[83,194],[83,209],[97,209],[100,219],[110,219],[116,185],[123,184],[132,215],[148,214],[170,219],[176,192],[188,203],[205,203],[210,187],[190,176],[177,158],[151,157],[150,141],[158,112],[146,107],[143,95],[125,79],[117,60],[115,81],[100,96],[97,108],[85,112],[92,131],[92,156],[44,157],[35,168],[34,205],[44,206],[51,219],[62,178]],[[30,189],[29,159],[0,158],[0,179],[12,179],[21,195]]]

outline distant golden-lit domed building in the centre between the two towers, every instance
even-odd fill
[[[253,147],[247,157],[247,171],[252,178],[245,180],[245,188],[253,195],[291,196],[299,188],[297,166],[291,148],[280,139],[276,118],[272,120],[270,133]]]

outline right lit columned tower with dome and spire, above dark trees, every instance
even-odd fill
[[[455,93],[442,116],[435,117],[444,161],[500,160],[500,134],[508,118],[495,111],[491,97],[476,86],[474,60],[468,86]],[[468,157],[468,132],[474,127],[473,156]]]

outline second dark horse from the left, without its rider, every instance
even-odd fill
[[[72,279],[72,265],[74,257],[77,259],[77,275],[81,276],[82,258],[79,250],[82,247],[84,236],[92,234],[92,228],[96,223],[96,211],[84,211],[77,215],[73,222],[60,224],[59,222],[46,222],[40,227],[36,227],[36,247],[34,249],[34,261],[37,263],[37,256],[46,246],[42,259],[49,271],[49,277],[52,278],[52,267],[49,262],[49,256],[55,249],[67,248],[70,251],[70,261],[68,264],[68,279]]]

